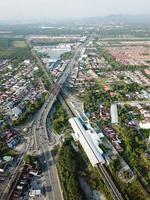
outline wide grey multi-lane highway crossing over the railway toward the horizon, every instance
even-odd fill
[[[53,107],[54,102],[56,101],[56,98],[60,90],[63,87],[63,84],[67,80],[73,65],[77,61],[77,57],[81,51],[81,48],[82,47],[80,46],[76,50],[74,57],[72,58],[70,63],[66,66],[63,74],[57,80],[55,85],[52,87],[48,100],[42,106],[39,114],[36,116],[36,119],[34,120],[33,123],[32,131],[35,136],[35,147],[36,150],[38,151],[41,161],[43,162],[43,167],[45,171],[44,172],[45,182],[46,182],[46,196],[47,199],[50,200],[62,200],[63,195],[60,187],[57,169],[50,152],[51,148],[48,137],[50,133],[47,133],[48,130],[46,125],[47,117]]]

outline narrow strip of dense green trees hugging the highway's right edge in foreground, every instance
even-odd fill
[[[77,163],[68,142],[65,142],[59,152],[57,167],[65,200],[82,200],[83,195],[79,187]]]

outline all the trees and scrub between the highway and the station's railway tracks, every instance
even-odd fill
[[[103,178],[97,169],[91,166],[81,146],[79,150],[76,152],[71,145],[71,139],[67,139],[58,153],[57,168],[65,199],[86,199],[79,182],[82,177],[92,190],[100,191],[107,200],[112,200]]]

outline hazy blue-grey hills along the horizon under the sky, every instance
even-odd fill
[[[87,17],[82,19],[62,19],[62,20],[18,20],[6,21],[0,20],[0,25],[16,25],[16,24],[48,24],[48,25],[89,25],[89,24],[136,24],[136,25],[150,25],[150,15],[108,15]]]

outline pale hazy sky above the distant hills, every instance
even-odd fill
[[[0,20],[76,19],[150,14],[150,0],[0,0]]]

